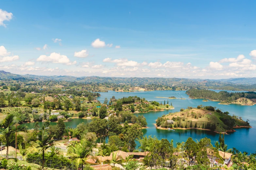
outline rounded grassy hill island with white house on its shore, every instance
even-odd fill
[[[159,129],[202,129],[216,133],[234,132],[233,128],[251,127],[247,121],[242,120],[229,112],[222,112],[212,106],[198,106],[180,109],[180,112],[163,115],[156,120],[156,127]]]

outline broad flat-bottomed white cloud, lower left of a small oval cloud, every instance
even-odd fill
[[[49,56],[40,55],[37,61],[49,62],[49,63],[60,63],[60,64],[66,64],[66,65],[72,65],[77,63],[76,61],[72,63],[67,56],[60,55],[59,53],[56,53],[56,52],[51,53]]]

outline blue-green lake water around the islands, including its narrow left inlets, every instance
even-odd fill
[[[219,92],[219,90],[214,90],[216,92]],[[225,143],[228,145],[228,148],[236,148],[239,151],[247,151],[254,153],[256,151],[256,105],[254,106],[241,106],[236,104],[230,104],[230,105],[219,105],[219,102],[203,102],[203,99],[190,99],[187,94],[185,94],[186,91],[151,91],[151,92],[101,92],[101,96],[98,97],[98,100],[103,103],[105,97],[108,98],[108,100],[115,96],[116,99],[122,98],[122,97],[128,97],[128,96],[138,96],[145,98],[148,101],[157,101],[159,103],[164,102],[167,104],[167,98],[156,98],[159,97],[170,97],[175,96],[176,98],[185,98],[186,100],[180,100],[180,99],[169,99],[169,104],[171,104],[175,107],[175,109],[172,110],[164,110],[164,111],[150,111],[147,113],[136,113],[136,115],[143,115],[146,118],[146,121],[148,123],[148,128],[143,129],[144,135],[152,135],[157,136],[159,139],[161,138],[167,138],[168,140],[173,139],[174,144],[176,142],[182,142],[186,141],[188,137],[192,137],[194,140],[200,140],[203,137],[208,137],[212,140],[212,143],[214,141],[218,140],[219,134],[216,134],[211,131],[204,131],[204,130],[197,130],[197,129],[188,129],[188,130],[181,130],[177,129],[176,131],[168,131],[168,130],[160,130],[156,129],[155,125],[153,123],[156,122],[156,119],[163,114],[168,114],[169,112],[177,112],[180,110],[180,108],[187,108],[188,106],[196,107],[198,105],[203,106],[213,106],[222,109],[223,111],[228,111],[230,115],[237,115],[239,117],[242,117],[243,120],[249,120],[250,125],[253,128],[240,128],[235,129],[236,132],[229,133],[229,135],[225,135]],[[237,92],[237,91],[228,91],[228,92]],[[73,119],[73,121],[65,122],[66,126],[76,127],[77,124],[80,122],[89,122],[91,120],[88,119]],[[56,124],[56,123],[51,123]],[[34,123],[26,123],[30,128],[33,128]],[[214,144],[213,144],[214,145]],[[137,145],[138,147],[138,145]]]

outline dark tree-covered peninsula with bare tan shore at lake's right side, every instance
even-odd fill
[[[242,105],[254,105],[256,92],[214,92],[211,90],[190,89],[186,92],[191,98],[206,98],[222,101],[222,103],[235,103]]]

